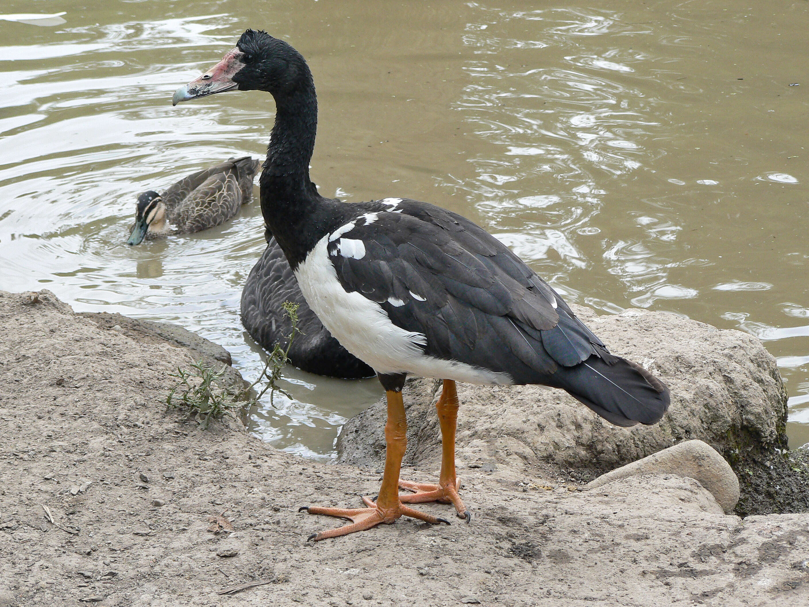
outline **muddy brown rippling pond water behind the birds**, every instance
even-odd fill
[[[264,28],[315,74],[321,193],[433,202],[569,300],[760,337],[789,389],[790,443],[809,441],[805,0],[58,4],[53,27],[0,20],[0,287],[176,322],[255,377],[238,310],[265,245],[258,205],[201,234],[124,242],[137,193],[263,157],[269,96],[171,96]],[[286,376],[294,399],[263,402],[252,429],[307,456],[330,456],[381,394]]]

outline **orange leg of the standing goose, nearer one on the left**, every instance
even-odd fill
[[[385,424],[385,473],[382,477],[382,486],[376,502],[366,497],[362,498],[364,508],[330,508],[330,507],[301,507],[299,511],[306,510],[309,514],[324,514],[348,519],[351,524],[344,525],[320,533],[312,533],[308,540],[320,541],[328,537],[338,537],[363,529],[370,529],[378,524],[392,524],[400,516],[411,516],[426,523],[449,524],[448,520],[438,519],[404,506],[399,501],[399,473],[402,465],[404,450],[407,448],[407,420],[404,418],[404,403],[402,393],[388,391],[388,423]]]

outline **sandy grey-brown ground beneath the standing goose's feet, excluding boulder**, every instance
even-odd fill
[[[471,524],[312,544],[340,521],[298,507],[356,507],[377,471],[277,452],[235,419],[183,422],[165,397],[193,353],[38,299],[0,294],[0,605],[809,602],[809,516],[726,516],[675,476],[580,490],[461,461]]]

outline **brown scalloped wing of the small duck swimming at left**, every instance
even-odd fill
[[[242,206],[242,190],[239,188],[235,169],[217,172],[208,177],[197,189],[169,210],[169,219],[177,231],[188,233],[205,230],[225,223]]]

